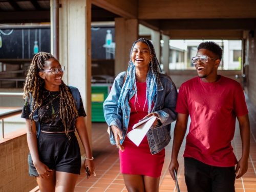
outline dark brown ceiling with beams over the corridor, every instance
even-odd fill
[[[91,2],[92,21],[114,21],[115,17],[138,19],[142,25],[170,38],[242,38],[244,31],[253,34],[256,26],[256,0]],[[50,1],[0,0],[0,23],[25,22],[50,22]]]

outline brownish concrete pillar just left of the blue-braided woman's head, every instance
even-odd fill
[[[138,19],[115,18],[115,75],[127,70],[133,42],[138,39]]]

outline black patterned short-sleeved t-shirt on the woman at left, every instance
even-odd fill
[[[59,113],[59,91],[49,91],[47,89],[44,89],[42,92],[42,97],[43,102],[41,107],[38,109],[41,130],[65,131]],[[29,115],[31,113],[31,110],[29,102],[29,99],[26,99],[22,111],[22,118],[30,119]],[[82,104],[81,95],[78,116],[86,116],[86,112],[84,111]],[[72,128],[74,128],[74,124],[75,121],[73,122]],[[70,130],[72,130],[72,128],[70,128]]]

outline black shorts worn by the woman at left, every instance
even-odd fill
[[[65,133],[40,132],[37,139],[37,147],[40,161],[51,170],[80,174],[81,154],[77,138],[74,132],[69,133],[71,139]],[[39,176],[28,156],[29,175]]]

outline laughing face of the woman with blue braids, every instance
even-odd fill
[[[133,61],[136,69],[148,70],[148,64],[151,61],[150,50],[144,42],[137,42],[132,51],[131,60]]]

